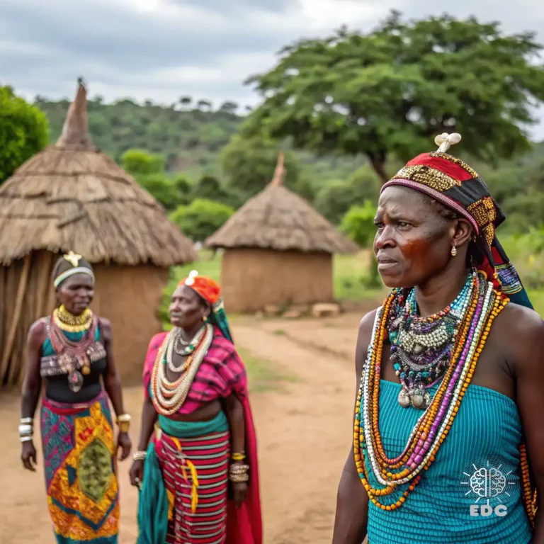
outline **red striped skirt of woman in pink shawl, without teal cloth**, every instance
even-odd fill
[[[169,499],[167,544],[222,544],[227,527],[229,431],[155,441]]]

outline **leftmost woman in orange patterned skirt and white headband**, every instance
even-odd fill
[[[111,351],[111,324],[89,309],[94,273],[81,255],[62,256],[53,271],[60,303],[28,332],[19,434],[21,460],[35,471],[33,419],[42,380],[41,431],[47,504],[58,544],[115,544],[119,501],[115,455],[130,454],[130,416],[123,409]],[[115,431],[111,400],[119,433]]]

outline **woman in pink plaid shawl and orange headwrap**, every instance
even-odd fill
[[[246,369],[219,285],[191,272],[169,312],[173,329],[154,336],[147,351],[130,469],[140,489],[138,544],[261,544]]]

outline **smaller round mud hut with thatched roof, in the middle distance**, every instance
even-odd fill
[[[332,302],[332,256],[358,250],[306,200],[285,188],[284,179],[280,154],[271,183],[205,242],[225,249],[221,283],[229,312]]]

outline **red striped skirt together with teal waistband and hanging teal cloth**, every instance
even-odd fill
[[[200,424],[173,420],[167,427],[172,434],[164,431],[166,425],[157,430],[144,467],[138,543],[225,543],[230,433],[221,413],[223,418],[224,424],[205,436],[181,438]]]

